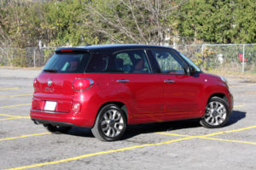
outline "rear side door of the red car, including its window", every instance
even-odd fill
[[[137,118],[162,116],[163,87],[160,77],[151,74],[144,50],[127,50],[113,54],[113,83],[122,99],[131,105]]]

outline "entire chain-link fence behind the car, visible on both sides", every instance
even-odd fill
[[[171,46],[192,59],[202,70],[226,68],[256,73],[256,44],[200,44]],[[1,48],[1,66],[41,67],[56,48]]]

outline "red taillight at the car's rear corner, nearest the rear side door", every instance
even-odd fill
[[[93,85],[93,80],[90,78],[77,78],[73,82],[73,90],[80,91],[86,90]]]

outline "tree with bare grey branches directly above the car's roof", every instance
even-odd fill
[[[163,44],[170,34],[173,0],[92,0],[90,26],[107,42]],[[182,1],[183,2],[183,1]]]

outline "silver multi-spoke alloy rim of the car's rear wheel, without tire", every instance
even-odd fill
[[[108,110],[102,116],[102,133],[109,138],[117,137],[123,131],[124,125],[124,118],[117,110]]]

